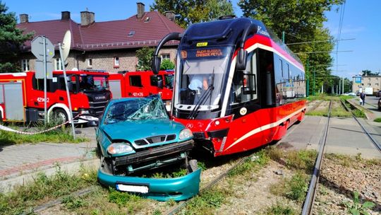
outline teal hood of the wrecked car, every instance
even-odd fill
[[[130,142],[148,136],[164,134],[176,134],[177,139],[179,132],[184,128],[185,127],[179,122],[173,122],[167,119],[117,122],[102,127],[104,132],[109,135],[111,139],[125,139]]]

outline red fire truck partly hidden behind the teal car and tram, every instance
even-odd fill
[[[170,108],[174,83],[174,71],[121,71],[109,75],[109,86],[113,98],[145,97],[159,94]]]

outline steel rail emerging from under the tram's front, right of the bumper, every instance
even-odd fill
[[[250,158],[250,156],[253,156],[253,154],[250,154],[249,156],[245,156],[243,158],[241,158],[236,164],[234,164],[233,166],[231,166],[231,168],[229,168],[228,170],[226,170],[224,173],[221,173],[217,178],[214,178],[214,180],[210,181],[209,183],[207,183],[207,185],[205,185],[204,187],[202,187],[200,189],[200,193],[201,194],[202,192],[204,192],[205,190],[208,190],[210,189],[210,187],[212,187],[213,185],[217,184],[217,182],[219,182],[220,180],[222,180],[223,178],[226,177],[226,175],[228,175],[231,170],[234,170],[238,165],[240,165],[241,163],[243,163],[243,161],[246,161],[246,159]],[[193,198],[191,198],[193,199]],[[183,202],[180,202],[179,205],[176,205],[175,207],[172,207],[171,209],[169,209],[167,212],[165,212],[164,214],[166,215],[173,215],[173,214],[176,214],[177,212],[179,212],[183,207],[186,206],[186,204],[188,204],[189,201],[191,201],[191,199],[187,199],[186,201],[183,201]]]

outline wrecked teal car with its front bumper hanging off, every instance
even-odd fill
[[[197,161],[188,162],[193,134],[169,120],[159,95],[111,100],[96,134],[102,185],[159,201],[181,201],[198,194],[201,170]],[[186,163],[187,175],[163,179],[134,176],[176,162]]]

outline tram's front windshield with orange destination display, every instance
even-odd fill
[[[205,47],[179,52],[175,108],[202,111],[220,107],[232,48]]]

